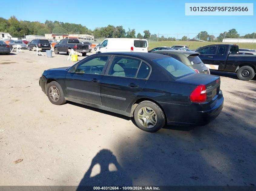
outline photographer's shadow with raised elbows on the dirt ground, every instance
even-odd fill
[[[90,177],[96,164],[100,165],[100,173]],[[117,171],[109,171],[110,164],[114,164]],[[91,166],[76,191],[89,190],[91,186],[132,186],[132,180],[122,169],[115,155],[110,150],[102,149],[92,159]]]

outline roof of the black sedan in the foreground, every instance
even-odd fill
[[[155,60],[159,58],[168,58],[169,56],[163,55],[163,54],[155,54],[155,53],[141,53],[141,52],[109,52],[109,53],[99,53],[99,54],[113,54],[118,56],[133,56],[138,57],[141,59],[149,59],[149,60]]]

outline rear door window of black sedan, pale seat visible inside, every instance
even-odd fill
[[[108,75],[135,78],[141,60],[115,56]]]

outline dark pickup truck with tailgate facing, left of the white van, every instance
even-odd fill
[[[54,53],[66,52],[69,54],[68,49],[82,53],[82,56],[85,56],[90,51],[88,44],[80,44],[78,39],[62,39],[54,46]]]

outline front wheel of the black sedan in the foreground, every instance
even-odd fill
[[[46,93],[51,103],[55,105],[62,105],[66,103],[61,85],[57,81],[52,81],[47,84]]]

